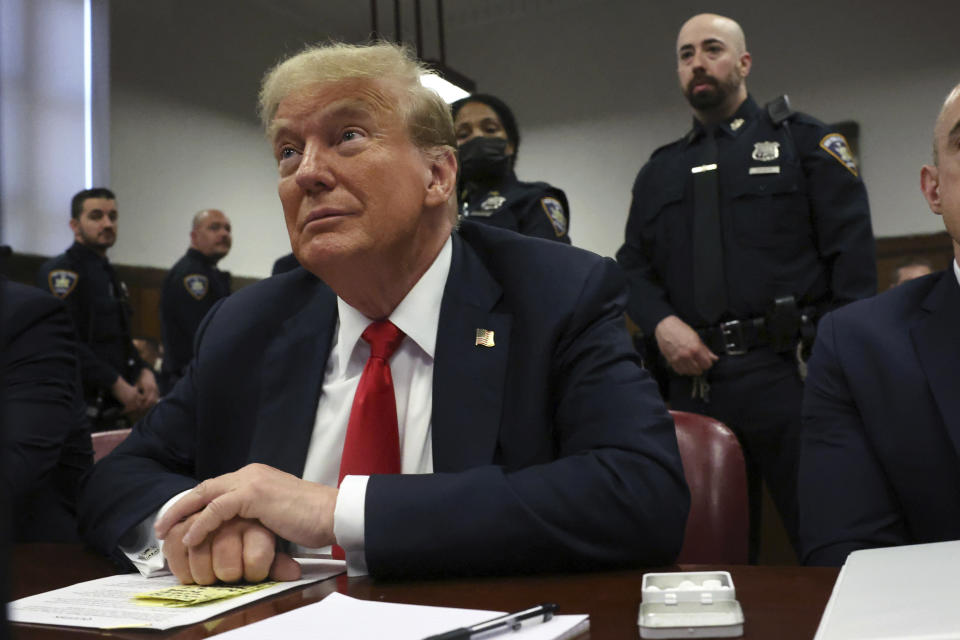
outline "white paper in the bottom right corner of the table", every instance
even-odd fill
[[[960,542],[854,551],[815,640],[960,638]]]

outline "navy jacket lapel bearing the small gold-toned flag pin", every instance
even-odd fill
[[[435,471],[494,459],[510,353],[511,316],[495,311],[501,293],[473,249],[454,233],[433,368]],[[493,346],[477,345],[478,330],[492,332]]]

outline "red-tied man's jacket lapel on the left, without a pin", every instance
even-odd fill
[[[303,293],[309,301],[287,318],[267,346],[250,448],[250,462],[297,476],[303,473],[337,321],[334,293],[319,282],[311,284]]]

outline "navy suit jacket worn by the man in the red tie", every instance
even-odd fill
[[[433,386],[433,474],[367,487],[374,575],[671,562],[689,496],[673,423],[624,329],[612,260],[465,223]],[[251,462],[300,475],[337,321],[303,269],[201,325],[186,377],[95,469],[81,527],[109,552],[165,500]],[[475,345],[478,328],[493,348]]]

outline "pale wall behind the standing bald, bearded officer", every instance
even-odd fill
[[[939,105],[960,82],[960,3],[559,4],[538,20],[458,25],[450,62],[514,107],[524,135],[518,172],[566,190],[574,244],[616,251],[637,171],[689,128],[673,50],[677,29],[698,11],[741,22],[753,54],[748,87],[759,102],[786,93],[821,120],[860,123],[877,236],[943,229],[920,196],[919,171]],[[484,48],[482,60],[470,55]]]

